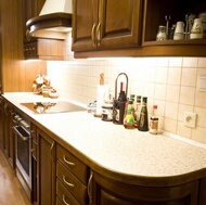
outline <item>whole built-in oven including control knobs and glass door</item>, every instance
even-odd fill
[[[33,162],[30,121],[20,113],[14,118],[16,176],[33,202]]]

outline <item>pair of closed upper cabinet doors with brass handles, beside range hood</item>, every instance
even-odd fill
[[[94,51],[139,47],[141,0],[75,0],[73,50]]]

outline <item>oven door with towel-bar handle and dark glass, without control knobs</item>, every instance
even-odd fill
[[[31,138],[30,133],[22,126],[14,126],[16,174],[27,183],[31,190]],[[20,179],[22,181],[22,179]]]

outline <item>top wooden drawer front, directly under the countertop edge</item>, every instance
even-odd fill
[[[77,177],[79,180],[87,184],[89,179],[89,168],[80,159],[69,153],[67,150],[57,144],[56,148],[57,158]]]

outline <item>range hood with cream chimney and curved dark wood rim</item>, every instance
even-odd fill
[[[72,1],[47,0],[39,16],[28,20],[26,27],[28,38],[65,39],[72,29]]]

